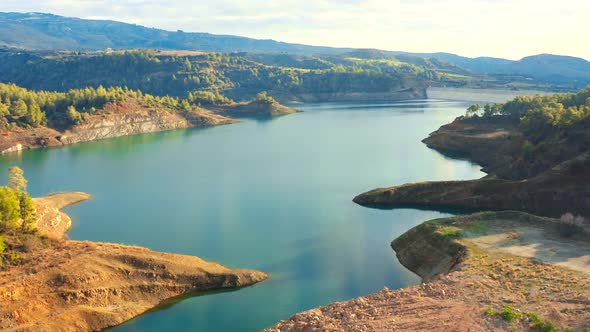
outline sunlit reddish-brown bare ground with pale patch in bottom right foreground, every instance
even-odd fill
[[[415,230],[406,233],[411,237],[403,241],[406,248],[397,248],[398,255],[407,249],[449,252],[450,243],[460,244],[466,255],[450,272],[419,286],[306,311],[267,331],[590,328],[588,243],[560,236],[555,220],[483,213],[427,222]],[[402,263],[406,259],[400,257]]]

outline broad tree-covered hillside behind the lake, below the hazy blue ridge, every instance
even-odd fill
[[[388,92],[433,83],[463,84],[471,75],[440,61],[384,53],[332,56],[161,51],[0,53],[0,81],[30,89],[67,91],[125,86],[159,96],[203,92],[236,100],[268,91],[283,99],[303,94]],[[295,97],[293,97],[295,96]]]

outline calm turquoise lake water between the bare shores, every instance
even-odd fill
[[[117,138],[0,158],[40,196],[84,191],[67,209],[76,240],[196,255],[271,275],[238,291],[187,298],[117,331],[259,331],[281,319],[420,279],[389,247],[448,214],[377,210],[376,187],[483,175],[420,141],[465,103],[323,103],[273,120]]]

